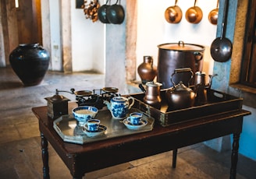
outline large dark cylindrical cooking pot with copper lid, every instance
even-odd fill
[[[172,87],[170,77],[176,68],[191,68],[192,72],[202,71],[204,46],[197,44],[179,43],[158,45],[158,75],[157,81],[162,83],[162,89]],[[173,82],[180,81],[194,84],[194,78],[190,80],[190,74],[181,73],[173,76]],[[187,84],[185,84],[187,85]]]

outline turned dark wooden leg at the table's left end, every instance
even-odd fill
[[[43,160],[43,174],[44,179],[50,179],[49,174],[49,164],[48,164],[48,140],[44,137],[41,132],[41,150],[42,150],[42,160]]]

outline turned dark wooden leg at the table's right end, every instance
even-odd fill
[[[236,178],[236,165],[238,161],[238,148],[239,148],[240,133],[233,134],[233,148],[231,154],[231,169],[230,169],[230,179]]]

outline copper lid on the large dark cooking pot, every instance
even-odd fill
[[[179,41],[179,43],[160,44],[158,47],[164,50],[173,51],[204,51],[204,46],[202,45],[184,44],[183,41]]]

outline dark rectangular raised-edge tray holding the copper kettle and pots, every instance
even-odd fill
[[[226,113],[229,111],[240,110],[243,105],[243,99],[233,97],[226,93],[221,93],[216,90],[208,90],[208,103],[204,105],[195,105],[181,110],[172,111],[169,109],[165,97],[165,91],[161,91],[161,108],[156,109],[143,101],[144,93],[130,95],[135,98],[133,107],[144,111],[148,115],[155,118],[155,121],[162,126],[174,125],[180,122],[196,120],[207,116]]]

